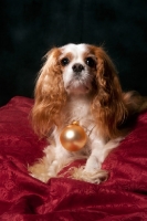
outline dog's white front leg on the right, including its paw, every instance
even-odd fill
[[[91,143],[92,152],[85,167],[75,168],[72,177],[92,183],[99,183],[107,179],[108,172],[102,169],[102,164],[108,152],[118,146],[120,139],[109,140],[104,144],[99,140]]]

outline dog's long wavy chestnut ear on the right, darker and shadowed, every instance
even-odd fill
[[[102,48],[94,48],[97,60],[95,82],[97,93],[93,99],[92,112],[103,136],[115,138],[119,135],[119,126],[127,116],[124,95],[117,71]]]

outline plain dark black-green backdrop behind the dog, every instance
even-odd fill
[[[70,42],[103,44],[125,91],[147,95],[146,0],[0,0],[0,105],[33,96],[41,57]]]

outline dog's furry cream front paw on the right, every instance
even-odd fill
[[[93,170],[93,171],[86,171],[85,167],[80,167],[80,168],[71,168],[71,178],[77,179],[77,180],[83,180],[86,182],[91,183],[101,183],[108,178],[108,172],[106,170]]]

